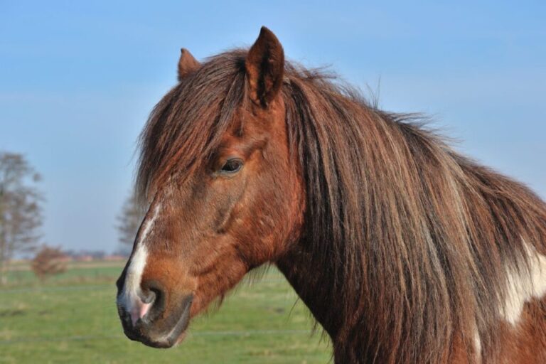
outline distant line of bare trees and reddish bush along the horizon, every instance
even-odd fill
[[[43,194],[38,189],[41,175],[22,154],[0,151],[0,285],[5,284],[9,263],[19,254],[34,254],[31,268],[45,279],[64,272],[66,259],[104,259],[105,252],[60,250],[41,242]],[[129,194],[117,217],[121,247],[114,255],[128,255],[145,209],[136,193]]]

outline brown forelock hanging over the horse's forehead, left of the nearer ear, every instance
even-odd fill
[[[244,89],[244,53],[209,58],[152,110],[139,138],[137,192],[149,200],[169,176],[208,159],[228,128]]]

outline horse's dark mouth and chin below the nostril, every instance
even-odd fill
[[[119,317],[125,336],[152,348],[176,346],[186,336],[186,329],[190,323],[192,301],[192,295],[186,296],[171,314],[166,314],[166,312],[152,313],[150,316],[139,319],[134,325],[131,323],[129,315],[120,310]]]

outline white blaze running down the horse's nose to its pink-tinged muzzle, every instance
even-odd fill
[[[124,307],[125,311],[131,315],[131,321],[134,323],[138,319],[144,317],[148,312],[151,304],[144,303],[141,296],[141,279],[146,267],[146,259],[148,258],[148,249],[146,248],[146,237],[154,228],[157,215],[159,215],[161,205],[156,205],[154,215],[146,221],[139,240],[135,243],[136,250],[134,251],[127,272],[125,272],[125,281],[123,284],[122,294],[118,296],[117,304]]]

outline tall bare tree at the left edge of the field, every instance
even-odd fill
[[[14,254],[31,252],[38,244],[43,197],[36,183],[40,179],[24,156],[0,152],[0,284],[6,282]]]

